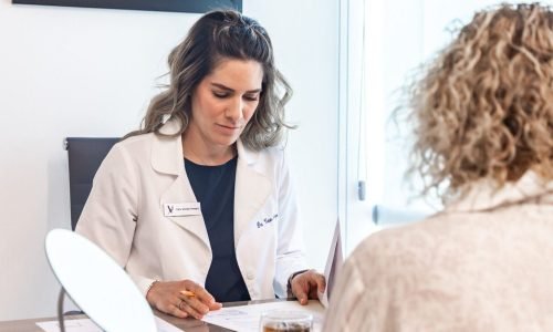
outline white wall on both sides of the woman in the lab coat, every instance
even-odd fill
[[[289,153],[313,230],[309,258],[322,268],[336,215],[337,4],[295,2],[243,8],[270,31],[295,90]],[[0,320],[54,315],[43,238],[70,225],[63,137],[136,128],[168,52],[198,17],[0,0]]]

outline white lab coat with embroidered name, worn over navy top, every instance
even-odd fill
[[[175,133],[169,121],[163,133]],[[284,154],[240,141],[234,188],[234,248],[252,300],[286,295],[306,269],[302,226]],[[102,163],[76,231],[106,250],[145,294],[154,280],[201,286],[212,253],[201,214],[166,217],[165,204],[196,203],[180,135],[153,133],[117,143]],[[225,278],[225,276],[221,276]]]

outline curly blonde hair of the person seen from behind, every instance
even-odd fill
[[[553,179],[553,13],[501,4],[474,14],[410,86],[413,168],[447,200],[536,168]]]

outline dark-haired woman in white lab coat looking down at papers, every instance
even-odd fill
[[[200,319],[227,301],[316,298],[324,277],[306,267],[279,147],[291,89],[267,31],[238,12],[210,12],[169,68],[142,129],[100,167],[76,231],[176,317]]]

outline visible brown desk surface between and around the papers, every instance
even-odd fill
[[[264,303],[264,302],[273,302],[273,301],[285,301],[285,300],[261,300],[261,301],[250,301],[250,302],[231,302],[231,303],[223,303],[223,307],[233,307],[233,305],[243,305],[243,304],[253,304],[253,303]],[[228,330],[225,328],[220,328],[217,325],[211,325],[206,322],[195,320],[195,319],[179,319],[173,315],[168,315],[165,313],[161,313],[157,310],[154,310],[154,313],[174,324],[175,326],[179,329],[186,330],[186,332],[228,332],[232,330]],[[75,319],[83,319],[86,318],[84,314],[75,314],[75,315],[66,315],[65,320],[75,320]],[[42,319],[30,319],[30,320],[19,320],[19,321],[3,321],[0,322],[0,332],[44,332],[41,328],[36,325],[38,322],[45,322],[45,321],[54,321],[58,320],[58,318],[42,318]]]

